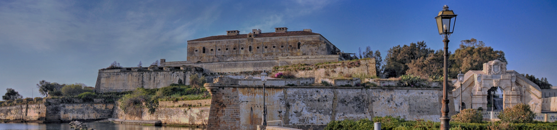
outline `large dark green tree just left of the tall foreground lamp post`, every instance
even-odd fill
[[[399,77],[406,74],[407,63],[415,59],[427,57],[434,53],[433,49],[427,48],[426,42],[410,43],[410,45],[394,46],[387,51],[383,73],[387,77]]]

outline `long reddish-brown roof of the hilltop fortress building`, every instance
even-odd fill
[[[307,32],[307,31],[289,31],[289,32],[281,32],[281,33],[270,32],[270,33],[253,34],[253,37],[261,38],[261,37],[287,37],[287,36],[309,36],[309,35],[320,35],[320,34]],[[247,38],[247,34],[238,34],[233,36],[228,36],[228,35],[211,36],[211,37],[193,39],[188,42],[213,41],[213,40],[222,40],[222,39],[243,39],[243,38]]]

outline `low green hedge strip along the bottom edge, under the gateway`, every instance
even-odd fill
[[[373,121],[360,119],[358,121],[344,120],[331,121],[325,130],[333,129],[373,129],[374,122],[381,122],[383,130],[438,130],[440,123],[415,119],[415,121],[405,121],[400,117],[374,117]],[[451,130],[505,130],[505,129],[524,129],[524,130],[550,130],[557,129],[557,123],[534,122],[534,123],[506,123],[506,122],[480,122],[480,123],[461,123],[451,122]]]

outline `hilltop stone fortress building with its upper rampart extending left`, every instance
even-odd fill
[[[178,83],[179,79],[189,83],[191,74],[205,75],[211,82],[223,73],[250,76],[271,71],[275,66],[356,59],[311,29],[288,31],[285,27],[269,33],[262,33],[261,29],[248,34],[226,31],[226,35],[193,39],[188,41],[187,52],[188,61],[160,59],[160,66],[99,69],[95,89],[110,92],[161,88]]]

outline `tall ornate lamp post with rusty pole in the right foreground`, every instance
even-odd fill
[[[441,130],[448,130],[449,129],[449,121],[451,121],[451,117],[448,116],[449,113],[449,100],[447,99],[447,95],[448,95],[448,90],[447,90],[447,78],[448,78],[448,69],[447,69],[447,58],[449,56],[448,54],[448,44],[449,44],[449,37],[451,37],[451,34],[453,33],[453,31],[455,31],[455,21],[456,21],[456,14],[449,10],[449,7],[447,5],[443,6],[443,10],[441,12],[439,12],[437,14],[437,17],[435,17],[436,21],[437,21],[437,30],[439,31],[439,35],[441,35],[444,39],[443,39],[443,43],[444,43],[444,52],[443,52],[443,100],[442,102],[442,106],[441,106],[441,118],[439,118],[441,120]],[[455,18],[454,20],[452,18]],[[451,30],[451,25],[452,30]]]

